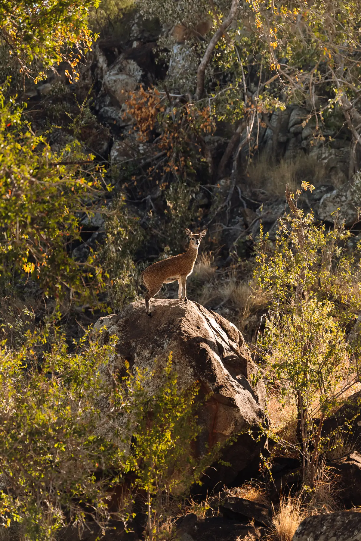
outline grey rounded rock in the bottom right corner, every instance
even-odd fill
[[[361,513],[338,511],[306,518],[292,541],[361,541]]]

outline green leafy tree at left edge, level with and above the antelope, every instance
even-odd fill
[[[44,296],[94,297],[102,285],[101,269],[92,256],[86,263],[75,261],[70,248],[80,239],[79,216],[91,213],[90,198],[102,195],[102,170],[76,140],[53,153],[24,120],[23,109],[14,99],[6,103],[2,93],[0,147],[3,287],[16,288],[18,280],[32,278]]]

